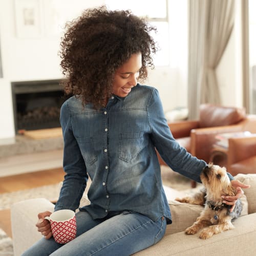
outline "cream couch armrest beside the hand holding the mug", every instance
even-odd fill
[[[20,201],[11,206],[11,226],[14,255],[21,255],[42,238],[35,226],[39,212],[53,211],[54,204],[45,198]]]

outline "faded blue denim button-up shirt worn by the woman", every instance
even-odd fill
[[[78,208],[89,175],[91,204],[80,210],[94,219],[132,211],[171,223],[155,148],[175,172],[198,182],[206,166],[173,138],[152,87],[137,84],[100,110],[73,96],[63,103],[60,122],[66,176],[55,210]]]

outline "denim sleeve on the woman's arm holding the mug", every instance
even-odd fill
[[[54,210],[75,210],[79,207],[80,199],[86,188],[88,174],[79,146],[73,135],[71,114],[67,101],[61,106],[60,124],[64,141],[63,169],[66,175]]]

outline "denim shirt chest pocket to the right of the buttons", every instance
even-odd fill
[[[130,162],[145,146],[143,133],[120,133],[119,134],[119,159]]]

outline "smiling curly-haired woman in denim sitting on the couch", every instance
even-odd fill
[[[200,182],[206,163],[173,138],[158,91],[137,82],[153,66],[154,30],[129,11],[104,7],[69,25],[61,66],[74,96],[61,108],[66,176],[55,210],[78,208],[88,176],[91,204],[79,209],[77,237],[66,245],[52,238],[44,220],[51,212],[38,214],[45,238],[24,255],[130,255],[160,241],[172,218],[155,148],[173,170]]]

